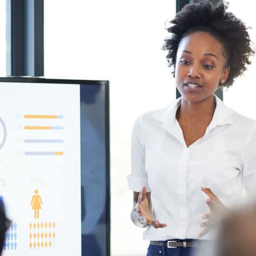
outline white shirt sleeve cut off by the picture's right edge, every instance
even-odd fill
[[[249,132],[242,154],[243,185],[250,199],[256,200],[256,125]]]

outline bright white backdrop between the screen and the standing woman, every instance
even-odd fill
[[[112,255],[145,255],[130,221],[130,136],[135,118],[175,99],[161,50],[175,0],[44,0],[45,77],[110,81]]]

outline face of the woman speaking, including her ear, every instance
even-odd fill
[[[195,32],[179,43],[175,78],[179,93],[188,102],[200,102],[217,90],[230,68],[225,67],[223,46],[207,32]]]

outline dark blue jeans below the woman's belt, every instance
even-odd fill
[[[193,241],[194,239],[186,239],[186,241]],[[181,242],[183,240],[175,239],[177,242]],[[149,244],[147,256],[193,256],[196,252],[196,248],[187,247],[187,248],[167,248],[165,243],[163,246],[160,245],[152,245]],[[209,253],[208,250],[205,249],[205,256]]]

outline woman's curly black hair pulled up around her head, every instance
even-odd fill
[[[165,39],[163,50],[168,51],[166,58],[169,67],[174,67],[174,77],[179,43],[185,36],[198,31],[210,33],[223,45],[226,67],[230,67],[230,73],[225,83],[219,83],[220,88],[230,87],[234,79],[246,70],[246,64],[251,64],[250,56],[255,51],[248,27],[233,13],[227,12],[227,7],[228,3],[222,1],[213,6],[210,1],[203,0],[185,5],[169,21],[166,30],[172,35]]]

